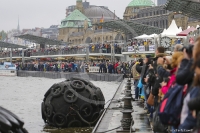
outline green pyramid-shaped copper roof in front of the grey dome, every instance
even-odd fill
[[[59,28],[78,28],[84,27],[85,20],[88,22],[88,27],[91,27],[91,20],[88,19],[79,10],[74,10],[69,16],[62,20]]]

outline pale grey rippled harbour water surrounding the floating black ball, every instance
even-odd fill
[[[29,133],[91,133],[93,127],[71,129],[45,127],[41,117],[41,103],[44,94],[51,85],[64,80],[0,76],[0,106],[21,118]],[[92,82],[101,88],[105,101],[113,97],[120,84],[119,82]]]

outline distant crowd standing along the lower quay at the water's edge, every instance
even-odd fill
[[[134,62],[110,61],[68,61],[68,62],[21,62],[16,63],[17,70],[54,71],[54,72],[89,72],[89,67],[99,67],[98,73],[124,74],[130,72]]]

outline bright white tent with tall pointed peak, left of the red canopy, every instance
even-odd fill
[[[176,37],[176,34],[180,33],[182,30],[180,30],[177,25],[175,20],[172,20],[171,25],[169,26],[169,28],[165,31],[163,31],[163,33],[161,33],[162,36],[168,36],[168,37]]]

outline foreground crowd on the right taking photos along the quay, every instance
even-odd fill
[[[154,132],[200,129],[200,37],[194,45],[177,44],[171,56],[158,47],[132,66],[135,100],[144,99]],[[169,130],[170,129],[170,130]]]

